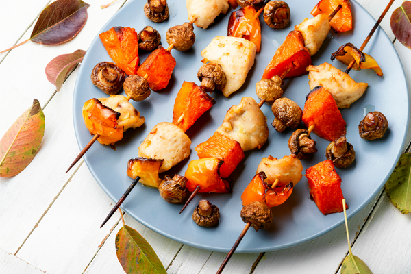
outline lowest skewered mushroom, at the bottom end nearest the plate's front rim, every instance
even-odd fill
[[[273,222],[273,213],[269,206],[262,201],[253,201],[241,210],[241,219],[244,223],[251,223],[251,227],[256,229],[267,229]]]

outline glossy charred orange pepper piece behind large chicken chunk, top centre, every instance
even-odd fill
[[[227,36],[245,38],[253,42],[257,47],[257,52],[260,52],[261,26],[256,14],[256,10],[251,5],[232,12],[228,19]]]

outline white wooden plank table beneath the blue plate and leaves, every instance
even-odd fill
[[[0,50],[27,40],[38,15],[50,2],[1,0]],[[99,228],[113,201],[101,190],[86,164],[77,164],[68,174],[64,173],[79,153],[72,119],[78,69],[60,92],[55,92],[44,73],[45,66],[55,56],[88,49],[99,29],[125,0],[104,10],[99,5],[108,1],[86,2],[91,5],[88,21],[71,42],[57,47],[27,42],[0,55],[0,136],[29,108],[33,98],[45,107],[46,117],[45,137],[33,162],[16,177],[0,178],[2,274],[124,273],[114,248],[114,238],[122,226],[119,214],[114,214],[107,225]],[[175,2],[184,4],[185,1]],[[388,0],[358,2],[378,18]],[[382,27],[394,42],[410,88],[411,50],[395,41],[389,25],[390,14],[401,2],[395,1]],[[226,256],[169,240],[127,215],[125,220],[148,240],[168,273],[216,273]],[[362,258],[373,273],[411,273],[410,227],[411,214],[402,215],[385,192],[380,192],[349,221],[353,253]],[[345,227],[340,226],[297,247],[260,254],[234,254],[224,273],[339,273],[347,251]]]

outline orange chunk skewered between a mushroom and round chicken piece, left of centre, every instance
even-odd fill
[[[173,123],[177,125],[180,116],[184,118],[179,127],[186,132],[204,112],[216,103],[204,90],[193,82],[183,82],[174,102]]]

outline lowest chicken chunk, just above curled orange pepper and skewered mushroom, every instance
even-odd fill
[[[282,159],[269,156],[262,158],[257,167],[257,173],[264,171],[267,176],[267,184],[274,184],[275,179],[279,180],[277,186],[285,186],[286,184],[298,184],[303,177],[303,165],[297,159],[295,154],[284,156]]]

